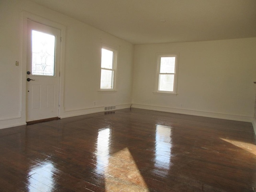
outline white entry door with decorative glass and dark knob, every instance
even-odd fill
[[[60,30],[28,20],[26,122],[59,114]]]

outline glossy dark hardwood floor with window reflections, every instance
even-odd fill
[[[0,130],[1,192],[253,192],[252,124],[140,109]]]

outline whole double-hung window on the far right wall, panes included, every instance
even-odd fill
[[[176,94],[178,54],[157,55],[156,93]]]

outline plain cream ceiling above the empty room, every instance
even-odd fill
[[[133,44],[256,37],[256,0],[30,0]]]

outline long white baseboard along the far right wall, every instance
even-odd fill
[[[249,116],[222,114],[222,113],[207,112],[207,111],[189,110],[189,109],[183,109],[183,108],[170,108],[170,107],[152,106],[152,105],[144,105],[144,104],[132,104],[132,108],[203,116],[203,117],[210,117],[210,118],[219,118],[219,119],[226,119],[226,120],[236,120],[236,121],[243,121],[243,122],[253,121],[253,117],[249,117]],[[256,129],[256,126],[255,126],[255,129]]]

